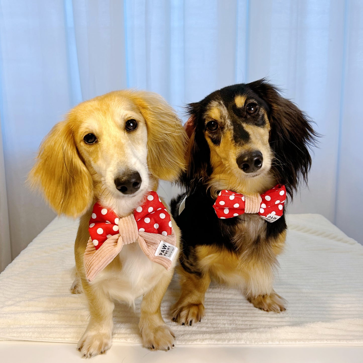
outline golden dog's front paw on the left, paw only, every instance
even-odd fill
[[[86,331],[77,344],[83,358],[103,354],[111,348],[112,334]]]

